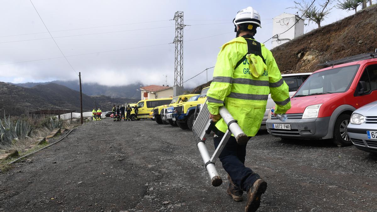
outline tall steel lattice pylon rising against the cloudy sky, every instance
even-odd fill
[[[183,29],[186,25],[183,24],[183,12],[177,11],[174,14],[175,20],[175,66],[174,66],[174,96],[183,93]]]

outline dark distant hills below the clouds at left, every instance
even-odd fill
[[[55,83],[39,84],[32,88],[24,88],[0,82],[0,111],[10,115],[40,109],[67,109],[80,111],[80,92]],[[113,104],[135,103],[130,98],[112,98],[107,96],[88,96],[83,94],[83,110],[91,111],[101,107],[109,111]]]

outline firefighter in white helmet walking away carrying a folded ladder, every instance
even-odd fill
[[[221,47],[207,92],[210,118],[217,121],[213,130],[216,148],[228,129],[219,115],[224,104],[249,139],[261,126],[270,92],[276,114],[284,114],[291,107],[288,86],[271,51],[254,39],[257,27],[261,27],[259,13],[252,7],[242,9],[233,23],[236,38]],[[250,212],[258,209],[267,183],[245,166],[245,156],[246,144],[238,144],[231,136],[219,159],[228,173],[227,193],[234,201],[241,201],[243,192],[247,192],[245,211]]]

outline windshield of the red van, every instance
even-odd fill
[[[348,90],[360,65],[329,69],[310,75],[294,97],[342,93]]]

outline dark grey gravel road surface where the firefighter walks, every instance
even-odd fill
[[[245,164],[268,183],[259,211],[377,211],[377,157],[328,143],[252,138]],[[217,167],[212,187],[190,131],[106,118],[1,174],[0,211],[243,211]]]

